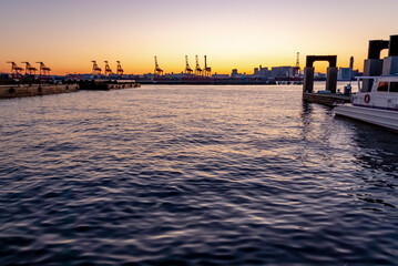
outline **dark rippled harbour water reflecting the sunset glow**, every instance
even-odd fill
[[[0,101],[0,265],[397,265],[397,134],[302,88]]]

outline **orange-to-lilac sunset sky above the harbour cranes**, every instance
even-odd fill
[[[108,60],[126,73],[181,72],[206,54],[213,72],[300,64],[337,54],[363,70],[368,41],[398,34],[397,0],[0,0],[0,72],[43,61],[54,74],[89,73]],[[317,63],[316,71],[326,64]]]

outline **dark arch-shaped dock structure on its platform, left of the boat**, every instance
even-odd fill
[[[326,92],[314,93],[314,62],[328,61],[326,76]],[[303,82],[303,100],[307,102],[319,103],[324,105],[334,106],[337,103],[350,102],[350,95],[336,93],[337,90],[337,55],[307,55],[306,68],[304,69]]]

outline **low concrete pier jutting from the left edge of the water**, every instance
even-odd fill
[[[0,99],[39,96],[59,93],[76,92],[76,84],[20,84],[20,85],[0,85]]]

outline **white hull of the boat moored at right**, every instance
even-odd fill
[[[398,111],[341,104],[335,108],[335,114],[398,132]]]

